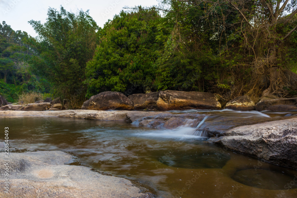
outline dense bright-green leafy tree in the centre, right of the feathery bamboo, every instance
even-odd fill
[[[99,31],[100,44],[86,69],[87,97],[102,91],[155,88],[159,43],[155,41],[160,16],[155,10],[121,12]]]

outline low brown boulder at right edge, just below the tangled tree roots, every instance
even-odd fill
[[[297,106],[297,98],[279,98],[273,100],[265,100],[263,102],[258,102],[255,106],[257,111],[268,110],[269,107],[274,105],[293,105]]]

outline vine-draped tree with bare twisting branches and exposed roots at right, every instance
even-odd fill
[[[226,37],[227,42],[220,43],[220,57],[233,71],[237,69],[252,76],[251,90],[261,84],[261,76],[267,75],[269,86],[262,96],[286,96],[285,88],[290,83],[282,75],[282,67],[285,65],[287,39],[297,29],[296,0],[177,1],[191,6],[204,4],[208,7],[207,18],[215,17],[220,22],[217,29],[233,29],[233,33]],[[219,14],[224,12],[235,12],[237,17],[230,23],[226,15]],[[291,89],[297,91],[296,87],[291,86]]]

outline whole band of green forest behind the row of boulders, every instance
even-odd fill
[[[103,91],[290,97],[297,94],[296,3],[164,0],[121,11],[103,28],[88,11],[50,8],[44,24],[29,21],[35,38],[3,22],[0,95],[16,102],[46,93],[70,108]]]

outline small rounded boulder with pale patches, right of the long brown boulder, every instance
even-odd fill
[[[238,96],[226,104],[227,109],[251,111],[255,109],[255,103],[249,96]]]

